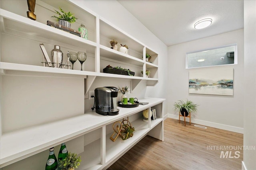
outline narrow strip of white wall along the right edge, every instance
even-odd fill
[[[244,146],[256,146],[256,1],[244,1]],[[256,169],[256,150],[244,150],[243,167]]]

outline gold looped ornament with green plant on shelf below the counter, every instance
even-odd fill
[[[122,140],[129,139],[133,136],[133,132],[135,131],[134,127],[132,127],[129,118],[123,118],[123,121],[116,121],[113,124],[114,133],[111,135],[110,139],[114,142],[117,137],[120,136]],[[114,137],[116,135],[116,137]]]

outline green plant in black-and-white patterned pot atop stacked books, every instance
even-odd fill
[[[60,12],[62,12],[62,14],[60,14]],[[65,27],[69,27],[70,28],[70,23],[73,23],[73,22],[76,21],[76,19],[78,19],[75,16],[73,16],[72,13],[70,13],[70,12],[66,13],[61,8],[60,8],[60,12],[56,11],[56,13],[59,16],[52,16],[52,17],[56,18],[58,20],[58,23],[60,25],[65,26]]]

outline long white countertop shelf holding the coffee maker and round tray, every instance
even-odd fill
[[[0,147],[1,167],[138,113],[148,107],[162,103],[164,100],[159,98],[140,99],[140,102],[149,102],[149,104],[134,108],[118,107],[120,111],[116,116],[103,116],[95,111],[88,111],[84,115],[2,134]],[[72,128],[66,126],[67,124],[72,125]]]

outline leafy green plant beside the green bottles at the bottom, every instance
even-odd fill
[[[74,170],[78,168],[81,162],[81,156],[78,156],[75,153],[68,153],[68,156],[62,160],[59,160],[58,167],[60,170]]]

